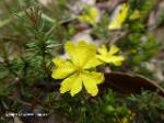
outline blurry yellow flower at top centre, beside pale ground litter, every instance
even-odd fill
[[[78,19],[81,22],[95,25],[98,22],[98,18],[99,18],[99,10],[95,7],[89,7],[86,11]]]

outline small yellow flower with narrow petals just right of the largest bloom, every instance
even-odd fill
[[[125,60],[124,56],[115,55],[119,52],[119,48],[115,45],[110,47],[109,51],[107,51],[107,47],[103,45],[99,49],[97,55],[97,58],[99,58],[104,63],[114,64],[116,66],[120,66],[122,62]]]

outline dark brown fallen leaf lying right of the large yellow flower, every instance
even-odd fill
[[[101,89],[112,88],[124,94],[141,93],[142,90],[159,90],[159,94],[164,97],[164,89],[154,81],[141,76],[133,76],[125,72],[113,71],[105,74],[105,82]]]

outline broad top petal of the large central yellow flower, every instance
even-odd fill
[[[75,66],[83,67],[96,54],[96,46],[84,41],[80,41],[77,45],[68,42],[65,48]]]

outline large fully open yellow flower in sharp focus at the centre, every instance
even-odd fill
[[[52,70],[52,78],[65,79],[61,82],[60,92],[70,91],[73,97],[82,90],[82,86],[91,96],[98,92],[97,85],[104,81],[104,75],[93,71],[93,68],[101,65],[96,58],[96,46],[81,41],[78,44],[67,42],[65,49],[70,59],[52,59],[56,69]]]

